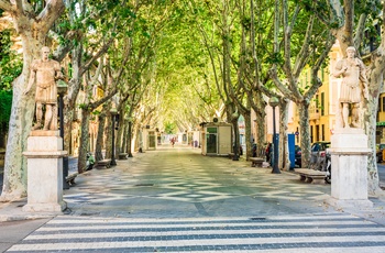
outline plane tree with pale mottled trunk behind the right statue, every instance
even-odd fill
[[[304,1],[306,8],[311,10],[320,22],[329,25],[332,34],[338,38],[341,52],[345,55],[348,46],[358,48],[359,54],[367,64],[369,98],[363,101],[362,125],[369,136],[369,146],[373,150],[369,156],[369,194],[381,194],[380,178],[376,163],[376,117],[378,96],[381,94],[385,70],[385,35],[384,10],[382,1]]]

